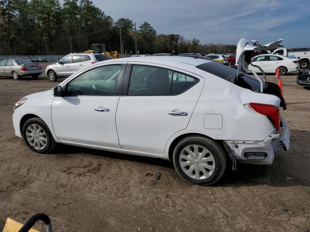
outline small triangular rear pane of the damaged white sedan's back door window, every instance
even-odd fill
[[[173,72],[171,94],[178,95],[185,92],[199,82],[199,79],[182,73]]]

